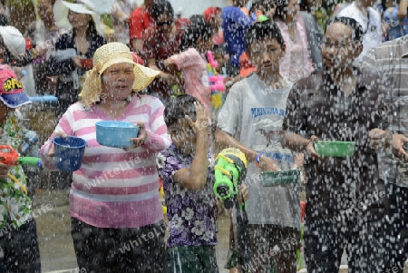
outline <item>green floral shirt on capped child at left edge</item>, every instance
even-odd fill
[[[10,145],[16,152],[23,141],[23,117],[15,111],[7,118],[4,124],[0,124],[0,145]],[[13,166],[9,173],[19,180],[20,183],[7,177],[0,179],[0,228],[5,228],[11,222],[14,228],[24,224],[31,218],[32,201],[24,193],[27,188],[25,175],[20,165]],[[23,188],[24,187],[24,190]]]

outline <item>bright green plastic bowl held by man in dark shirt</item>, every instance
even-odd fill
[[[352,156],[355,153],[355,141],[316,141],[315,150],[322,156]]]

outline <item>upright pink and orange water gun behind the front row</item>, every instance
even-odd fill
[[[211,106],[213,112],[219,110],[225,101],[224,77],[217,72],[219,63],[214,60],[212,52],[207,52],[207,72],[209,73],[209,89],[211,90]]]

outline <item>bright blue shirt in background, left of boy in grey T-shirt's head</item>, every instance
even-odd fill
[[[228,5],[222,10],[222,29],[229,54],[229,63],[239,67],[239,57],[245,51],[245,34],[252,24],[249,18],[237,6]]]

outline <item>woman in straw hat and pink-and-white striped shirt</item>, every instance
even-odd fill
[[[93,63],[80,94],[82,101],[68,108],[42,147],[44,166],[55,169],[54,137],[73,135],[87,141],[70,192],[79,268],[87,272],[161,272],[165,226],[155,158],[171,141],[163,104],[137,93],[158,73],[134,63],[129,47],[121,43],[102,45]],[[95,129],[95,123],[101,121],[130,122],[140,131],[126,149],[102,146]],[[130,242],[136,243],[130,246]]]

